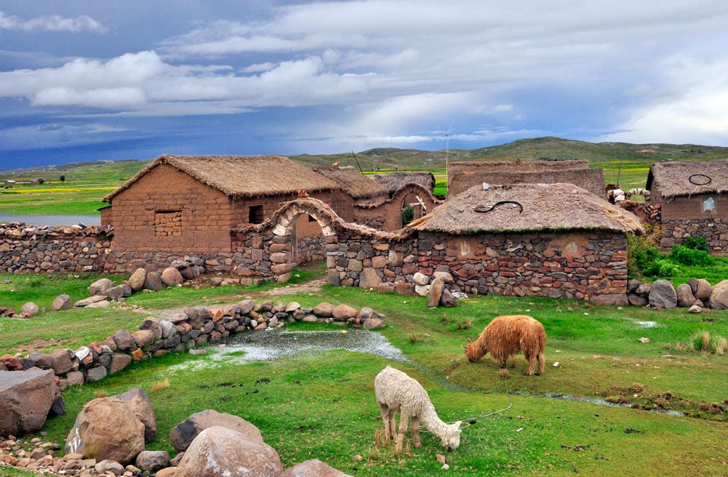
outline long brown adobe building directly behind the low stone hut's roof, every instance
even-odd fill
[[[453,162],[448,170],[448,195],[488,183],[557,184],[569,183],[606,199],[604,172],[589,167],[589,161],[478,161]]]

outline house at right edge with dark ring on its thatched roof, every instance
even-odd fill
[[[652,164],[646,188],[660,208],[661,246],[703,236],[713,252],[728,252],[728,160]]]

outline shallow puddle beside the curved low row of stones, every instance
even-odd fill
[[[215,361],[226,363],[231,361],[236,363],[274,361],[299,353],[323,350],[358,351],[393,361],[410,362],[404,353],[395,348],[382,334],[360,329],[336,332],[289,332],[267,329],[238,334],[227,340],[224,348],[206,349],[210,359],[181,363],[172,366],[172,369],[205,368],[215,366]]]

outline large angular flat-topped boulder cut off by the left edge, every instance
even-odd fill
[[[50,369],[0,371],[0,435],[19,436],[42,428],[55,393]]]

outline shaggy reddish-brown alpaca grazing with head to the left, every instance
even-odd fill
[[[544,326],[531,316],[496,316],[486,326],[486,329],[483,329],[477,341],[470,342],[470,340],[467,340],[467,342],[465,356],[470,361],[478,361],[490,351],[494,360],[498,361],[502,368],[505,368],[505,363],[510,356],[523,351],[523,356],[529,362],[526,375],[534,374],[536,361],[539,363],[539,372],[537,374],[544,372],[546,366],[544,356],[546,332]]]

